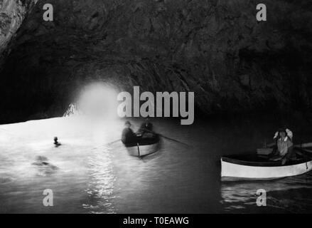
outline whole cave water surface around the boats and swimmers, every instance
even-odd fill
[[[189,147],[163,139],[158,153],[139,160],[121,142],[107,144],[120,138],[123,122],[55,118],[0,125],[0,212],[311,212],[311,173],[220,182],[220,156],[261,147],[276,123],[197,120],[182,126],[179,120],[153,120],[159,133]],[[141,120],[131,122],[136,130]],[[301,128],[291,126],[297,137],[312,135]],[[54,147],[54,136],[63,145]],[[38,155],[58,169],[32,165]],[[260,188],[267,191],[267,207],[256,206]],[[43,207],[45,189],[53,190],[53,207]]]

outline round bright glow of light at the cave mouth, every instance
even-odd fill
[[[107,83],[85,86],[77,99],[77,108],[84,115],[117,118],[117,90]]]

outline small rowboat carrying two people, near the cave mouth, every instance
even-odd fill
[[[160,147],[160,137],[155,134],[153,138],[142,138],[139,142],[125,144],[129,155],[145,157],[158,152]]]

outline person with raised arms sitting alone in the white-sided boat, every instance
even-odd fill
[[[274,140],[276,140],[276,147],[272,155],[276,157],[272,157],[271,160],[280,160],[282,159],[282,164],[284,165],[286,161],[288,161],[292,155],[293,150],[293,133],[289,129],[280,128],[274,135]]]

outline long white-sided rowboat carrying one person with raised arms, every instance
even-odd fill
[[[303,147],[294,147],[296,159],[285,165],[281,161],[270,161],[263,155],[227,155],[221,157],[221,179],[270,180],[301,175],[312,170],[312,158]]]

